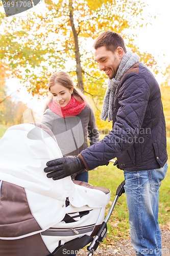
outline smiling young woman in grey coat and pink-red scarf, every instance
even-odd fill
[[[95,116],[83,93],[75,87],[71,77],[55,72],[48,81],[51,98],[41,122],[54,133],[63,155],[78,155],[87,144],[99,141]],[[88,182],[88,172],[76,176],[76,180]]]

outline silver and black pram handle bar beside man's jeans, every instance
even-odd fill
[[[110,219],[110,216],[112,214],[112,211],[115,207],[115,204],[118,200],[118,198],[120,196],[122,196],[123,193],[125,193],[125,189],[124,189],[124,185],[125,185],[125,180],[120,183],[120,185],[118,186],[117,190],[116,190],[116,196],[115,199],[110,207],[110,210],[104,220],[104,222],[102,223],[100,229],[98,230],[96,236],[93,238],[93,241],[91,242],[91,244],[87,247],[87,250],[89,251],[88,256],[92,256],[94,254],[94,251],[98,248],[100,242],[103,242],[104,238],[107,235],[107,222]]]

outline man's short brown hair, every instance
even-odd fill
[[[96,50],[102,46],[112,52],[115,52],[119,46],[123,48],[125,53],[127,52],[123,37],[113,31],[104,31],[95,39],[93,48]]]

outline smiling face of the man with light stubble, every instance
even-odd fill
[[[105,46],[94,50],[94,60],[99,63],[100,71],[103,70],[110,79],[115,77],[123,55],[124,51],[121,47],[117,47],[114,53],[108,51]]]

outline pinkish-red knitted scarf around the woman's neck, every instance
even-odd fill
[[[66,106],[60,106],[54,99],[48,104],[48,108],[56,113],[58,116],[67,118],[69,116],[77,116],[86,106],[85,101],[78,101],[74,96],[71,97],[70,101]]]

